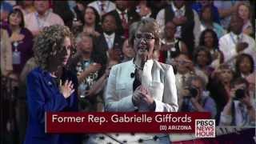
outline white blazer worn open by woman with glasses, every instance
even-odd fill
[[[133,60],[115,65],[110,70],[104,100],[106,111],[148,111],[148,107],[132,102],[133,82],[130,74],[134,73]],[[176,112],[178,98],[173,67],[167,64],[148,60],[142,72],[142,85],[150,90],[156,104],[155,112]]]

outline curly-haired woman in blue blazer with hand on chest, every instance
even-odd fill
[[[72,42],[70,30],[60,25],[45,27],[34,40],[38,67],[27,76],[29,125],[25,144],[79,143],[78,135],[45,131],[45,112],[78,110],[78,81],[64,68],[73,50]]]

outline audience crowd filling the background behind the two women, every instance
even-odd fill
[[[0,139],[14,129],[18,142],[24,138],[26,75],[37,66],[33,38],[43,27],[70,28],[76,51],[66,68],[78,77],[79,110],[104,111],[111,66],[134,58],[129,26],[142,18],[155,18],[161,27],[154,59],[174,66],[179,111],[210,112],[219,126],[255,126],[253,6],[206,0],[1,1]]]

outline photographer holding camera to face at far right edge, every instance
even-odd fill
[[[231,97],[222,110],[220,126],[255,126],[255,102],[251,101],[248,86],[244,78],[234,81]]]

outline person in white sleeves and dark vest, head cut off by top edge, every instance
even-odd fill
[[[196,11],[187,6],[185,1],[174,1],[157,15],[158,24],[163,32],[166,22],[173,21],[177,26],[175,38],[181,38],[188,46],[190,54],[194,46],[198,45],[200,34],[200,20]]]

